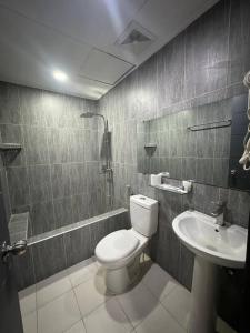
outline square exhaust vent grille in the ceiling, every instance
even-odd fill
[[[150,31],[141,27],[139,23],[132,21],[114,44],[132,53],[139,54],[144,51],[154,40],[156,37]]]

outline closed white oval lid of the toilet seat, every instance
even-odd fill
[[[103,238],[96,248],[100,261],[114,262],[126,258],[138,246],[139,240],[128,230],[118,230]]]

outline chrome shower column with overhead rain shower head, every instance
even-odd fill
[[[111,161],[110,161],[110,133],[109,133],[109,123],[108,120],[104,118],[104,115],[100,114],[100,113],[94,113],[94,112],[89,112],[86,111],[83,113],[81,113],[80,118],[93,118],[93,117],[99,117],[103,120],[103,124],[104,124],[104,135],[103,135],[103,142],[104,142],[104,165],[101,167],[101,172],[104,173],[107,175],[107,181],[109,183],[108,188],[108,200],[109,200],[109,204],[112,205],[112,194],[111,194],[111,190],[112,190],[112,179],[113,179],[113,170],[111,168]]]

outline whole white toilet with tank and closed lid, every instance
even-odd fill
[[[124,292],[139,274],[140,255],[157,231],[158,201],[141,194],[130,196],[130,218],[131,229],[108,234],[94,251],[113,294]]]

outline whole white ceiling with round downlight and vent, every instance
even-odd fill
[[[216,2],[0,0],[0,80],[99,99]]]

